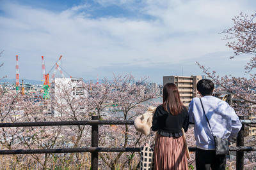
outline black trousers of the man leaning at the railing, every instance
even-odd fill
[[[216,155],[215,150],[196,148],[196,170],[225,170],[226,155]]]

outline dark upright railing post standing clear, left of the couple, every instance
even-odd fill
[[[92,116],[92,120],[99,120],[99,116]],[[92,147],[98,147],[99,145],[99,125],[92,125]],[[98,170],[98,152],[92,152],[91,158],[92,170]]]

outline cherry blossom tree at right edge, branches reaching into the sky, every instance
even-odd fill
[[[227,92],[234,95],[235,102],[232,104],[237,115],[244,115],[246,119],[252,119],[256,111],[256,13],[246,15],[240,13],[239,16],[232,18],[234,25],[225,29],[222,33],[225,34],[224,40],[227,40],[227,46],[234,50],[234,57],[250,56],[250,60],[244,66],[244,74],[246,77],[236,77],[232,75],[218,76],[215,71],[210,71],[209,67],[202,66],[196,62],[202,71],[218,85],[217,92]],[[253,125],[249,125],[253,126]],[[247,139],[248,138],[248,139]],[[254,141],[252,136],[246,137],[246,146],[251,146]],[[255,146],[255,143],[253,144]],[[250,167],[255,167],[252,162],[256,161],[255,154],[248,153],[245,156],[246,164]],[[252,161],[252,162],[250,162]]]

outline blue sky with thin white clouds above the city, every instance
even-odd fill
[[[163,83],[163,76],[203,74],[196,61],[220,75],[244,76],[248,57],[230,60],[223,29],[231,18],[255,12],[255,1],[88,0],[1,1],[0,76],[42,78],[60,55],[66,76],[85,80],[132,73]]]

